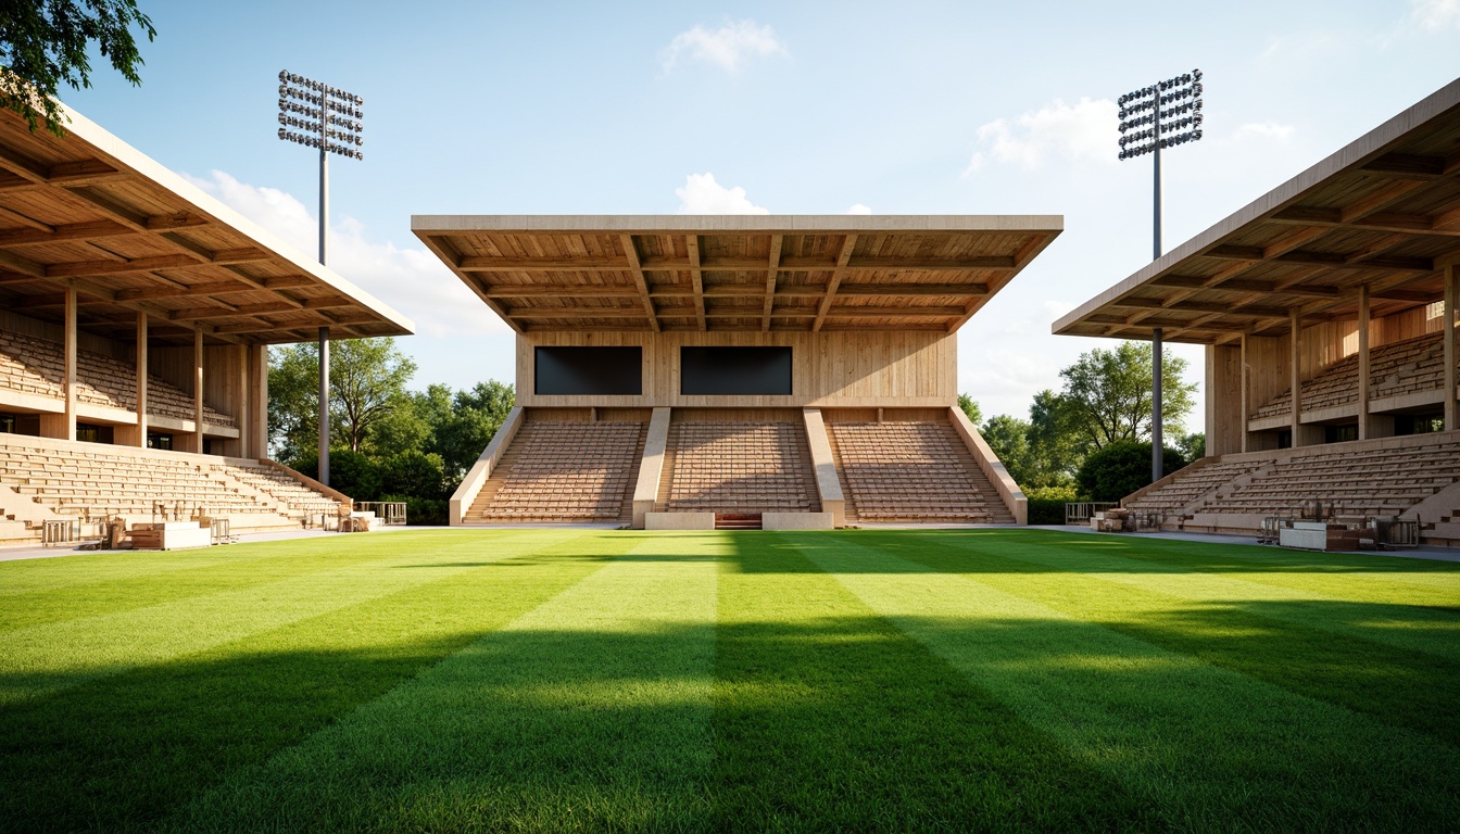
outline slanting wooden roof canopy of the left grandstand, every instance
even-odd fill
[[[410,320],[95,123],[31,133],[0,112],[0,308],[130,340],[279,343],[403,336]]]

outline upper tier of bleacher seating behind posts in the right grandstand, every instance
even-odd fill
[[[1358,402],[1358,355],[1345,356],[1302,384],[1304,410],[1330,409]],[[1438,390],[1444,380],[1444,346],[1440,333],[1394,342],[1369,352],[1369,399]],[[1278,394],[1253,419],[1283,416],[1292,408],[1292,389]]]

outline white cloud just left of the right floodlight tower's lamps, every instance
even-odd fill
[[[1115,102],[1108,98],[1080,98],[1075,105],[1054,99],[1013,120],[996,118],[978,129],[978,150],[964,177],[978,172],[990,159],[1026,171],[1051,158],[1114,164],[1120,124],[1115,112]]]

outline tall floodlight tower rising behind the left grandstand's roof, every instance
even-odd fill
[[[330,153],[365,159],[365,99],[279,72],[279,139],[320,149],[320,266],[330,244]],[[291,130],[295,129],[295,130]],[[320,483],[330,485],[330,329],[320,327]]]

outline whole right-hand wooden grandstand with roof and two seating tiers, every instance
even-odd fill
[[[1460,542],[1460,82],[1054,324],[1206,346],[1207,457],[1126,498],[1254,532],[1321,502]]]

